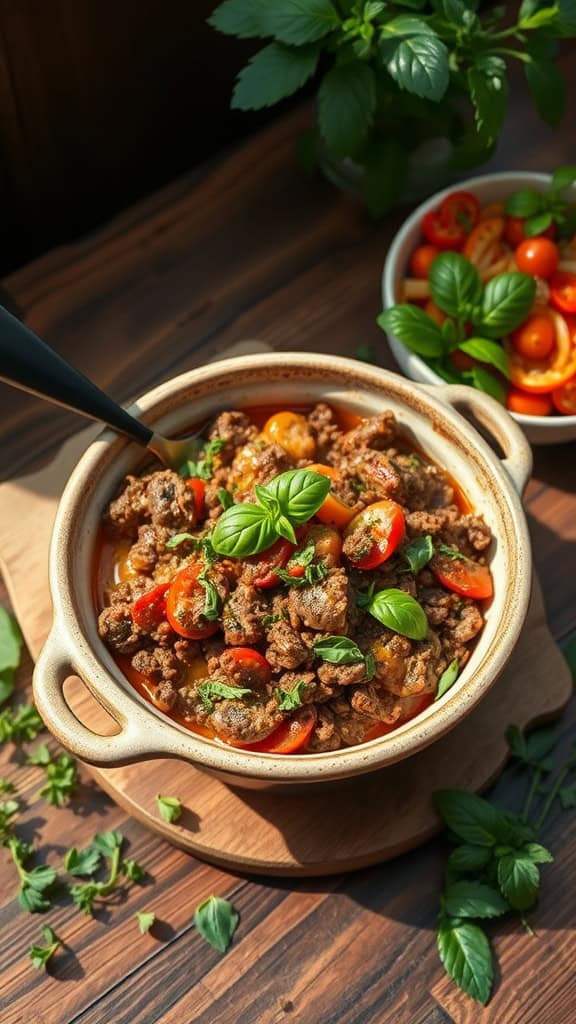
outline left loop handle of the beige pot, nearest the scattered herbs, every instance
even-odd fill
[[[147,730],[139,724],[134,709],[121,696],[115,707],[102,703],[106,712],[120,726],[120,732],[100,736],[92,732],[74,714],[65,693],[64,684],[70,676],[77,676],[74,659],[63,649],[52,631],[42,648],[33,676],[34,700],[39,714],[56,739],[75,757],[102,768],[131,764],[151,757],[166,757],[167,751],[153,750]],[[131,708],[131,705],[130,705]],[[134,720],[135,718],[135,720]]]

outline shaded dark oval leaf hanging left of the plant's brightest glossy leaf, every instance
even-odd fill
[[[318,90],[320,133],[335,157],[354,156],[370,132],[376,110],[374,72],[360,60],[335,65]]]

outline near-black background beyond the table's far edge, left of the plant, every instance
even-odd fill
[[[0,0],[0,274],[271,117],[230,110],[258,43],[215,0]]]

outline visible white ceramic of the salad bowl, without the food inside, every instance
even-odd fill
[[[544,191],[549,180],[549,174],[537,174],[534,171],[482,174],[477,178],[460,181],[457,185],[452,184],[450,187],[444,188],[443,191],[435,193],[425,203],[421,203],[404,221],[388,249],[382,273],[384,309],[388,309],[400,301],[400,288],[403,278],[406,276],[410,256],[421,241],[422,217],[428,211],[438,209],[445,196],[449,196],[455,188],[462,188],[474,193],[481,206],[487,206],[489,203],[501,202],[517,188]],[[574,186],[571,191],[576,200]],[[394,356],[407,377],[411,377],[412,380],[418,381],[420,384],[444,383],[442,377],[430,370],[419,355],[411,352],[393,335],[387,337]],[[520,423],[526,436],[534,444],[558,444],[561,441],[576,440],[576,416],[525,416],[521,413],[511,413],[510,415]]]

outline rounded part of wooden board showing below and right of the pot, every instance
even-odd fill
[[[72,688],[74,687],[74,688]],[[387,860],[440,827],[435,790],[480,791],[505,760],[504,730],[558,715],[572,681],[547,629],[535,583],[522,639],[505,673],[455,730],[409,761],[360,780],[305,786],[297,793],[230,788],[181,761],[155,760],[126,768],[88,770],[115,801],[154,831],[195,856],[246,873],[322,876]],[[78,681],[67,696],[94,731],[111,720]],[[157,794],[177,796],[176,824],[158,816]]]

